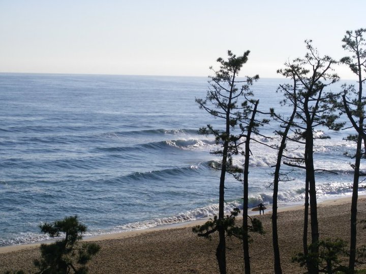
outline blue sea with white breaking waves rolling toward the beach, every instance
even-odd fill
[[[284,80],[253,86],[260,109],[279,107]],[[42,241],[39,224],[78,215],[88,235],[210,217],[218,210],[219,158],[198,108],[205,77],[0,74],[0,246]],[[272,123],[262,130],[278,142]],[[347,131],[318,140],[320,199],[350,195]],[[322,133],[319,133],[322,134]],[[302,149],[292,145],[292,155]],[[290,147],[291,148],[291,147]],[[252,144],[250,205],[272,202],[276,152]],[[237,159],[240,163],[242,159]],[[290,169],[288,169],[290,171]],[[280,186],[280,204],[301,202],[303,171]],[[242,185],[227,177],[227,210],[240,206]]]

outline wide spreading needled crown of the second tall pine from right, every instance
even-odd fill
[[[337,63],[329,56],[319,56],[311,40],[306,40],[308,52],[304,58],[294,59],[285,63],[285,68],[278,73],[292,78],[293,84],[280,85],[277,92],[284,93],[282,106],[296,107],[295,119],[291,122],[291,130],[294,136],[292,141],[301,143],[312,133],[313,139],[328,139],[329,136],[316,134],[316,127],[325,126],[332,130],[340,130],[344,123],[337,122],[342,114],[339,112],[340,94],[327,92],[326,88],[339,80],[338,75],[333,74],[331,66]],[[338,112],[337,112],[338,111]],[[270,110],[272,118],[283,123],[287,121]],[[311,130],[311,131],[310,131]],[[278,134],[281,135],[281,131]],[[295,163],[297,164],[297,163]]]

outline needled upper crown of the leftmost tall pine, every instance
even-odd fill
[[[219,70],[210,67],[214,75],[209,77],[206,98],[196,98],[196,102],[201,109],[204,109],[215,118],[222,118],[226,121],[225,130],[214,129],[211,125],[207,125],[200,128],[199,133],[214,135],[218,145],[229,142],[227,145],[229,155],[237,152],[236,142],[241,138],[240,134],[231,134],[230,130],[237,126],[239,128],[245,127],[241,121],[248,117],[252,109],[252,104],[248,104],[247,100],[239,102],[239,99],[252,96],[250,86],[259,79],[259,76],[256,75],[246,77],[244,81],[237,80],[242,65],[248,60],[249,53],[250,51],[246,51],[242,56],[236,56],[229,50],[227,60],[221,57],[218,58]]]

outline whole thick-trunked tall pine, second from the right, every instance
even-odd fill
[[[319,227],[316,198],[316,180],[314,167],[314,131],[318,126],[326,126],[329,129],[339,130],[342,123],[335,120],[339,114],[335,113],[332,102],[337,98],[336,94],[326,92],[326,87],[339,80],[338,75],[331,73],[331,66],[336,63],[329,56],[320,57],[317,50],[312,46],[312,41],[307,40],[307,54],[304,58],[297,58],[286,67],[294,73],[298,83],[296,91],[296,129],[294,139],[304,145],[303,159],[294,159],[286,164],[300,167],[306,170],[305,191],[306,201],[304,209],[303,251],[308,252],[307,229],[308,210],[310,205],[311,220],[311,252],[318,254]],[[303,141],[301,141],[303,140]],[[294,163],[293,163],[294,162]],[[310,202],[308,203],[308,198]],[[308,261],[308,271],[318,273],[316,261]]]

